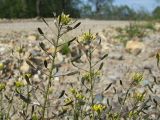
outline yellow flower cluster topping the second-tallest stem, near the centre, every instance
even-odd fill
[[[85,32],[80,36],[80,41],[82,42],[89,42],[91,40],[95,40],[96,36],[93,35],[90,31],[89,32]]]

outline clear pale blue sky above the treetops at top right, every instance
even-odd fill
[[[160,2],[156,0],[115,0],[115,5],[128,5],[136,10],[144,8],[149,12],[153,11],[157,6],[160,6]]]

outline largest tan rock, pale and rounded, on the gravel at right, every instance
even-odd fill
[[[126,44],[126,51],[133,55],[138,55],[141,53],[141,51],[144,49],[144,44],[139,41],[128,41]]]

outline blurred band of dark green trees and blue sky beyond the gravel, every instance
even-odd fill
[[[0,18],[53,17],[105,20],[160,19],[160,0],[0,0]]]

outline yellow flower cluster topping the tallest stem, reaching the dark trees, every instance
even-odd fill
[[[60,16],[58,16],[58,21],[59,20],[60,20]],[[70,18],[69,15],[65,15],[64,13],[61,14],[61,21],[60,21],[60,23],[62,25],[68,25],[71,21],[72,21],[72,19]]]

